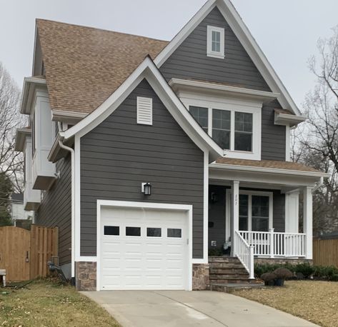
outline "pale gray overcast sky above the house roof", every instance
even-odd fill
[[[206,0],[0,0],[0,61],[19,86],[31,76],[36,18],[171,40]],[[301,106],[314,86],[307,59],[338,24],[337,0],[233,0]]]

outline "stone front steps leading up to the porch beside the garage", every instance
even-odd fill
[[[249,279],[249,273],[236,257],[209,257],[209,290],[231,293],[245,288],[259,288],[264,283]]]

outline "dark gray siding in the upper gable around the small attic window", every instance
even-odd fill
[[[225,29],[225,59],[207,56],[208,25]],[[213,9],[182,42],[161,66],[160,71],[167,80],[174,77],[200,79],[270,91],[247,51],[217,8]]]

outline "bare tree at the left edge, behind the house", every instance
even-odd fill
[[[16,128],[24,126],[19,114],[19,87],[0,62],[0,172],[11,178],[13,189],[23,187],[23,156],[14,151]]]

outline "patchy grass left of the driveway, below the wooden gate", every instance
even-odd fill
[[[0,287],[0,326],[100,327],[119,323],[74,287],[34,281],[19,290]]]

